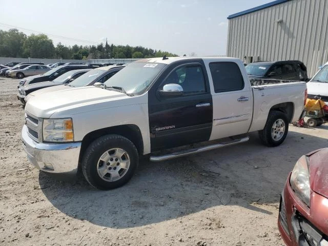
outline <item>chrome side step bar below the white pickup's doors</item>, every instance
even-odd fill
[[[243,137],[243,138],[235,139],[235,140],[233,140],[231,142],[227,142],[227,143],[209,145],[209,146],[200,147],[200,148],[196,148],[196,149],[175,152],[175,153],[168,154],[168,155],[151,156],[150,161],[169,160],[169,159],[178,158],[181,156],[190,155],[190,154],[194,154],[194,153],[200,153],[200,152],[204,152],[204,151],[208,151],[208,150],[215,150],[215,149],[219,149],[222,147],[241,144],[242,142],[247,142],[249,139],[250,139],[249,137]]]

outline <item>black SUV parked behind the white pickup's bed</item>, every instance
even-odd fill
[[[245,68],[250,78],[308,81],[306,67],[299,60],[261,61]]]

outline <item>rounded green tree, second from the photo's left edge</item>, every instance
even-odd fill
[[[24,55],[33,58],[53,58],[55,47],[45,34],[31,34],[24,43]]]

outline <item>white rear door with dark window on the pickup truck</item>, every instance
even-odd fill
[[[209,62],[213,81],[213,129],[210,140],[247,133],[253,114],[253,92],[243,64]]]

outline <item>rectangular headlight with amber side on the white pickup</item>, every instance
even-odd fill
[[[72,119],[44,119],[43,140],[47,142],[74,141]]]

